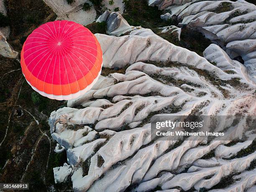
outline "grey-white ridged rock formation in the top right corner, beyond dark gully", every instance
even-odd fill
[[[205,34],[215,44],[220,45],[231,58],[241,56],[251,78],[256,78],[256,5],[244,0],[232,2],[192,1],[181,6],[162,7],[169,13],[162,19],[176,18],[179,25],[187,25]],[[169,6],[169,7],[168,7]]]

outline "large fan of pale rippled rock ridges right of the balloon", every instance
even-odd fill
[[[223,177],[244,172],[256,159],[255,153],[232,160],[201,159],[241,136],[245,131],[241,124],[228,129],[223,141],[204,145],[196,138],[181,143],[151,141],[149,123],[154,114],[256,114],[256,106],[251,105],[256,102],[255,83],[246,67],[230,59],[218,45],[211,44],[201,57],[148,29],[128,36],[96,37],[104,67],[129,67],[125,74],[101,76],[92,90],[51,113],[51,134],[67,148],[74,190],[119,192],[131,186],[137,191],[210,189]],[[233,83],[234,79],[239,80]],[[228,119],[222,122],[220,131],[232,123]],[[233,154],[237,152],[233,150]],[[248,172],[242,181],[251,181],[246,189],[252,187],[253,173]]]

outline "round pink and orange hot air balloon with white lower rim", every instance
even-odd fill
[[[26,39],[20,64],[28,84],[45,97],[70,100],[90,90],[100,76],[102,51],[84,26],[56,20]]]

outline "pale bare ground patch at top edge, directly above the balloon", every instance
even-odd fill
[[[70,5],[66,0],[44,0],[44,2],[56,13],[57,20],[72,20],[87,25],[96,18],[96,10],[89,0],[75,0]],[[82,10],[85,2],[91,5],[90,10]]]

